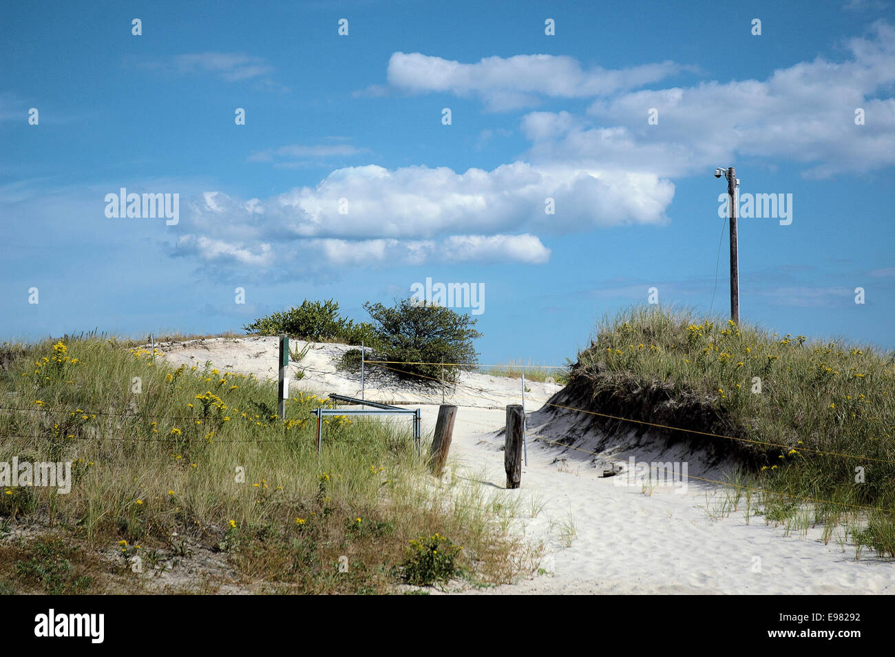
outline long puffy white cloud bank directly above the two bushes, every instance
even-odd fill
[[[526,162],[462,174],[354,166],[264,200],[205,192],[187,204],[177,252],[263,269],[299,266],[304,252],[334,269],[433,260],[540,264],[550,250],[538,235],[661,224],[673,197],[672,183],[648,173]]]

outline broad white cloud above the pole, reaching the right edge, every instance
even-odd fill
[[[805,175],[861,173],[895,164],[895,28],[877,22],[848,41],[848,58],[823,58],[765,80],[705,81],[596,99],[586,116],[534,112],[521,129],[537,162],[692,175],[737,156],[788,159]],[[650,110],[658,124],[647,123]],[[856,124],[856,110],[865,123]]]

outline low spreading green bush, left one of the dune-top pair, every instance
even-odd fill
[[[262,336],[285,333],[303,340],[337,341],[349,345],[360,345],[361,342],[372,345],[376,339],[370,324],[354,323],[354,320],[340,317],[338,302],[332,299],[324,302],[305,299],[302,305],[260,317],[243,326],[243,330]]]

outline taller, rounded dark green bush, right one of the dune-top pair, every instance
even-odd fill
[[[454,384],[460,370],[471,370],[477,362],[473,340],[482,334],[468,315],[411,299],[398,301],[393,308],[369,302],[363,307],[379,342],[372,360],[400,363],[388,365],[399,378],[435,385],[441,380],[440,363],[460,363],[444,368],[444,380]]]

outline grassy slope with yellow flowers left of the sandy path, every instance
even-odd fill
[[[144,571],[211,550],[262,591],[388,592],[407,542],[436,532],[484,579],[519,572],[506,518],[435,485],[408,422],[328,417],[318,458],[328,400],[296,391],[281,421],[276,382],[154,355],[97,336],[0,348],[0,461],[72,463],[68,494],[0,486],[0,516],[90,550],[139,544]]]

